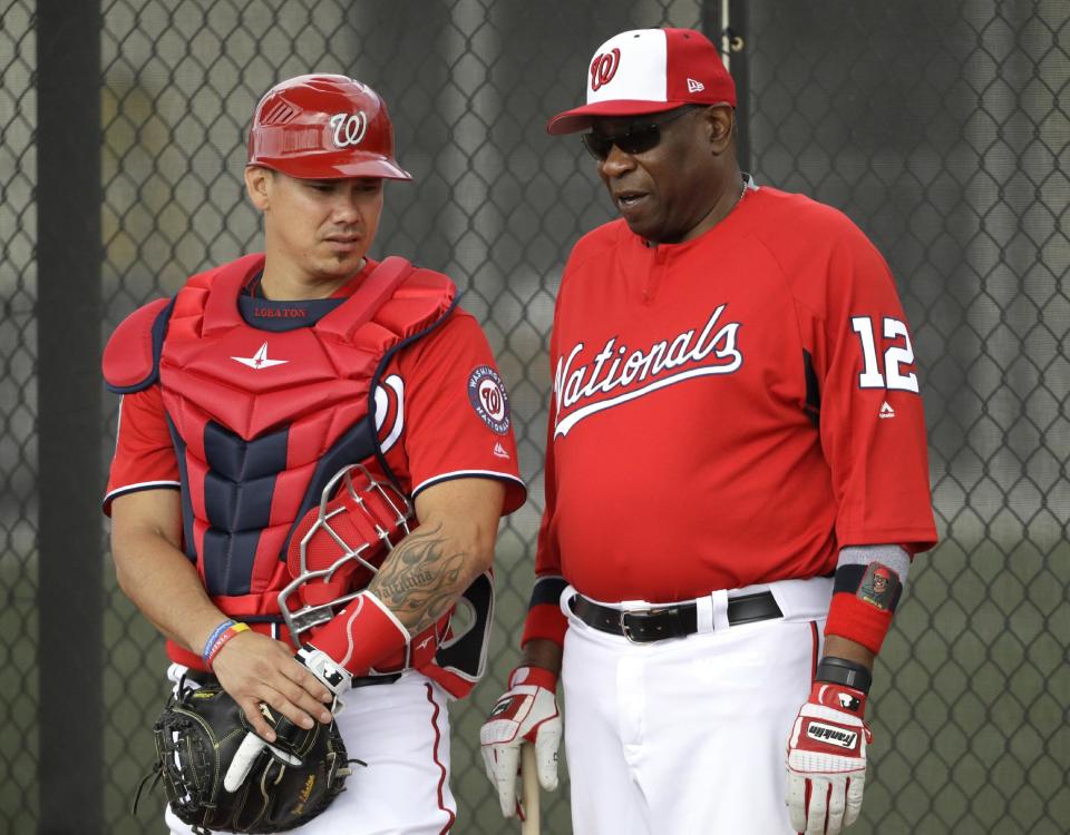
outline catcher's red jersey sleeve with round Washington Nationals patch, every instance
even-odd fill
[[[417,495],[450,479],[487,478],[506,488],[503,513],[519,508],[521,480],[508,392],[476,320],[457,310],[410,350],[405,381],[405,453]],[[388,381],[389,382],[389,381]]]

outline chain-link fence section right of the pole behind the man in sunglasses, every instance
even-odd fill
[[[1070,7],[750,3],[751,156],[895,273],[943,542],[875,689],[888,833],[1070,831]]]

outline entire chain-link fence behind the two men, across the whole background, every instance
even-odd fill
[[[94,24],[71,31],[74,7],[88,9]],[[46,511],[57,505],[46,495],[56,474],[94,501],[103,488],[84,483],[85,472],[70,474],[62,442],[98,450],[90,463],[103,479],[116,404],[105,399],[88,436],[48,423],[77,403],[47,404],[67,402],[57,392],[69,400],[85,373],[74,361],[89,354],[95,363],[106,334],[136,306],[259,248],[241,183],[246,122],[268,87],[311,70],[360,78],[387,99],[415,183],[388,187],[373,254],[403,254],[451,275],[509,384],[532,499],[503,527],[492,668],[453,708],[453,756],[457,832],[514,828],[483,776],[478,725],[515,662],[533,578],[554,293],[572,243],[611,216],[578,143],[547,137],[543,124],[580,100],[595,46],[659,24],[701,27],[714,38],[730,28],[723,42],[742,91],[745,167],[759,183],[850,215],[888,258],[915,334],[942,543],[915,566],[878,662],[876,741],[857,831],[1070,828],[1064,0],[8,0],[0,2],[0,832],[162,828],[156,808],[139,821],[128,814],[164,698],[160,642],[110,569],[103,580],[94,574],[96,563],[107,564],[96,522],[74,530],[70,548],[47,546],[61,527],[61,514],[56,522]],[[67,45],[79,39],[91,41],[81,58],[98,73],[69,71]],[[79,112],[99,124],[90,146],[99,159],[79,168],[99,190],[65,195],[55,163],[64,132],[78,138]],[[64,197],[90,198],[103,247],[88,245],[84,268],[46,269],[70,248]],[[88,295],[79,282],[91,283]],[[57,288],[82,305],[70,322],[103,305],[88,342],[49,317],[66,298]],[[100,412],[99,397],[86,404]],[[54,593],[65,572],[75,588]],[[80,600],[85,613],[65,610]],[[56,669],[65,656],[52,645],[82,668]],[[87,658],[96,666],[85,669]],[[103,736],[50,730],[60,714],[75,717],[72,728],[99,718]],[[55,768],[65,757],[78,762],[79,749],[88,767],[70,785],[80,780],[98,797],[71,812],[77,793]],[[544,798],[547,832],[571,831],[566,789]]]

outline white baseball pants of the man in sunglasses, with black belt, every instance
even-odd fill
[[[631,644],[568,609],[562,686],[574,835],[794,833],[788,733],[810,691],[831,580],[774,592],[784,618],[729,627],[703,598],[703,631]],[[710,603],[706,603],[710,600]],[[702,619],[700,619],[701,621]],[[713,628],[716,625],[716,628]]]

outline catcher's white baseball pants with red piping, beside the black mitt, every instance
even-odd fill
[[[168,675],[176,680],[174,672],[172,667]],[[446,835],[457,815],[449,789],[447,699],[437,684],[412,670],[392,685],[359,687],[342,696],[346,708],[337,721],[346,750],[368,766],[354,763],[346,790],[322,815],[292,832]],[[166,822],[172,835],[192,833],[169,806]]]

